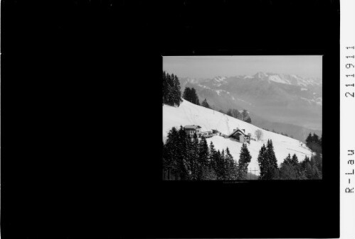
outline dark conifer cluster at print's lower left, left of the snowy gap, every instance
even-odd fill
[[[240,180],[245,179],[251,160],[246,144],[238,162],[228,148],[216,150],[205,138],[190,137],[180,126],[169,130],[163,148],[163,174],[168,180]]]

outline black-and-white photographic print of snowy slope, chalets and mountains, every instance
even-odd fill
[[[322,179],[322,56],[164,56],[164,180]]]

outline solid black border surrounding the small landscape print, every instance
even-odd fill
[[[339,1],[1,4],[1,237],[339,237]],[[163,183],[161,55],[255,50],[324,55],[322,182]]]

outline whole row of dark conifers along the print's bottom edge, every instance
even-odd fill
[[[168,180],[243,180],[248,174],[251,160],[246,144],[242,145],[238,162],[233,159],[229,148],[216,150],[206,138],[190,137],[180,126],[169,130],[166,142],[162,144],[163,174]],[[305,156],[299,162],[297,155],[285,157],[277,165],[272,140],[260,148],[258,155],[260,180],[270,179],[322,179],[322,154],[316,152],[310,158]]]

